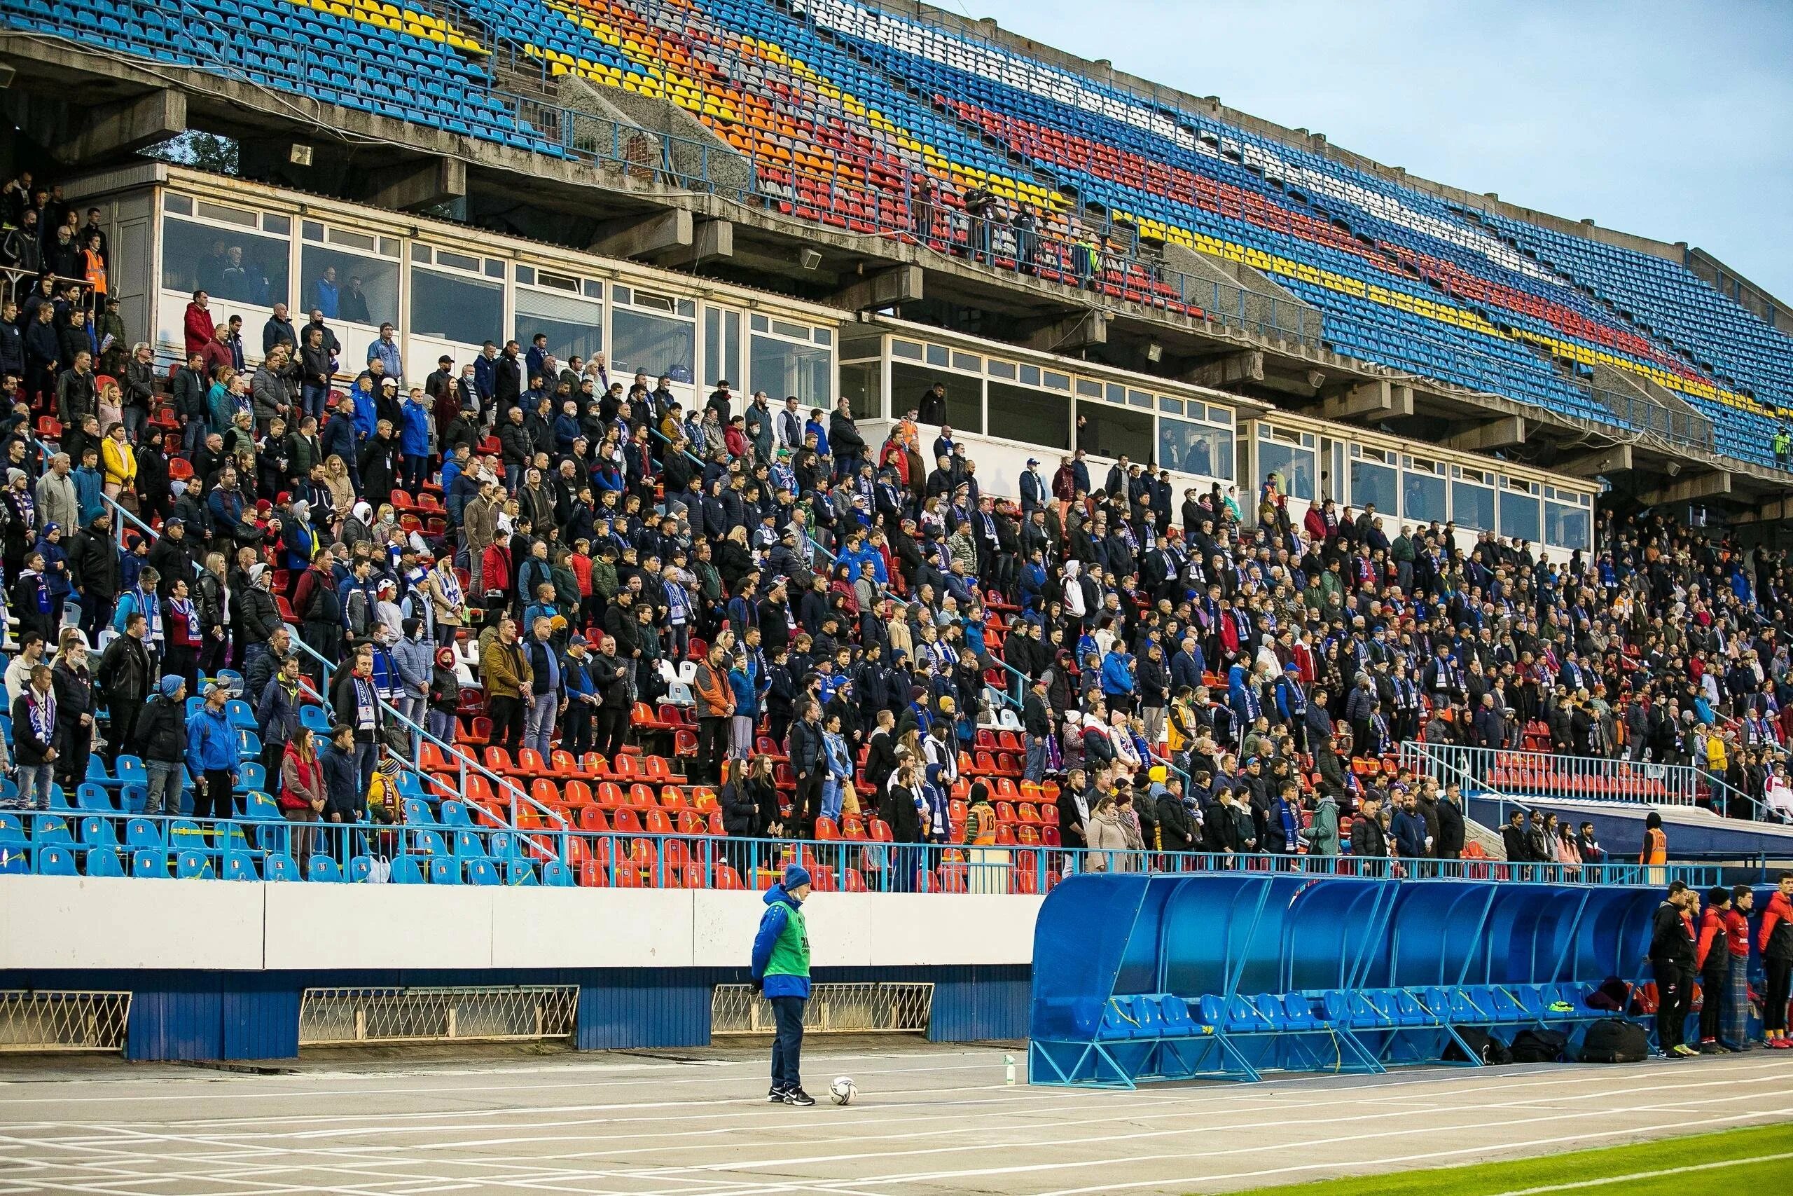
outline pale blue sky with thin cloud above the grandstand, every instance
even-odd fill
[[[1793,305],[1793,2],[932,0]]]

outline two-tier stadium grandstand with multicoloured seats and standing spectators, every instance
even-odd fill
[[[0,0],[0,1045],[708,1044],[793,866],[830,1029],[1026,1038],[1088,873],[1356,952],[1160,947],[1063,1083],[1714,1053],[1669,882],[1764,886],[1702,1013],[1741,943],[1793,1045],[1793,353],[1711,255],[916,4]]]

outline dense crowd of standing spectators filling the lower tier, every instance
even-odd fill
[[[13,233],[82,233],[29,178],[5,203]],[[351,776],[305,798],[341,818],[416,735],[387,708],[446,742],[615,755],[644,735],[635,703],[667,698],[696,706],[683,771],[723,787],[732,834],[845,810],[948,841],[965,753],[1004,712],[1063,846],[1460,852],[1461,814],[1438,819],[1460,802],[1395,764],[1409,739],[1684,764],[1732,814],[1793,798],[1786,559],[1662,513],[1603,507],[1594,550],[1553,554],[1291,500],[1277,473],[1176,493],[1081,448],[999,497],[940,387],[873,445],[845,398],[717,380],[687,405],[545,335],[414,378],[391,325],[351,346],[274,305],[244,328],[203,290],[163,369],[97,269],[0,319],[16,751],[65,785],[99,735],[185,758],[228,810],[222,746],[158,705],[228,667],[271,776],[289,748],[353,762],[292,778]],[[120,536],[106,498],[160,534]],[[341,744],[312,751],[307,696]],[[1585,859],[1542,834],[1535,859]]]

